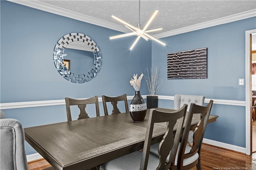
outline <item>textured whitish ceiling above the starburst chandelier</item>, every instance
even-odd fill
[[[111,24],[120,24],[111,16],[138,25],[139,0],[40,0],[65,11],[73,11]],[[159,10],[148,29],[159,34],[256,9],[255,0],[141,0],[140,24],[143,28],[154,10]],[[130,30],[127,29],[127,32]]]

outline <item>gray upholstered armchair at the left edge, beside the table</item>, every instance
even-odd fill
[[[27,170],[24,129],[16,119],[4,119],[0,111],[0,169]]]

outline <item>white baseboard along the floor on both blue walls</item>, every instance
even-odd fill
[[[206,143],[206,144],[213,145],[213,146],[218,146],[218,147],[221,147],[221,148],[234,150],[236,152],[246,153],[246,148],[243,148],[243,147],[240,147],[240,146],[235,146],[235,145],[232,145],[232,144],[226,144],[226,143],[222,143],[222,142],[218,142],[218,141],[210,140],[210,139],[206,139],[206,138],[204,138],[203,142]],[[37,159],[40,159],[40,158],[43,158],[43,157],[39,153],[27,155],[27,161],[28,162],[33,161],[33,160],[37,160]]]

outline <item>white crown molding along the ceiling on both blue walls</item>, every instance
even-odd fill
[[[31,8],[36,8],[38,10],[50,12],[50,13],[53,13],[53,14],[57,14],[57,15],[60,15],[60,16],[65,16],[65,17],[68,17],[68,18],[72,18],[72,19],[75,19],[75,20],[82,21],[82,22],[87,22],[87,23],[94,24],[94,25],[97,25],[97,26],[102,26],[104,28],[109,28],[109,29],[112,29],[112,30],[125,32],[125,33],[128,32],[128,30],[126,28],[124,28],[123,26],[119,26],[117,24],[113,24],[113,23],[110,23],[110,22],[99,20],[99,19],[93,18],[91,16],[82,15],[82,14],[79,14],[77,12],[73,12],[73,11],[70,11],[70,10],[64,10],[63,8],[52,6],[50,4],[46,4],[44,2],[40,2],[40,1],[37,1],[37,0],[8,0],[8,1],[14,2],[14,3],[17,3],[17,4],[21,4],[21,5],[24,5],[24,6],[28,6],[28,7],[31,7]],[[229,22],[243,20],[243,19],[246,19],[246,18],[254,17],[254,16],[256,16],[256,10],[250,10],[250,11],[242,12],[242,13],[239,13],[239,14],[234,14],[234,15],[231,15],[231,16],[227,16],[227,17],[224,17],[224,18],[220,18],[220,19],[216,19],[216,20],[212,20],[212,21],[208,21],[208,22],[203,22],[203,23],[196,24],[196,25],[193,25],[193,26],[188,26],[188,27],[184,27],[184,28],[180,28],[180,29],[176,29],[176,30],[156,34],[156,35],[154,35],[154,37],[155,38],[165,38],[165,37],[174,36],[174,35],[177,35],[177,34],[182,34],[182,33],[186,33],[186,32],[200,30],[200,29],[203,29],[203,28],[217,26],[217,25],[220,25],[220,24],[226,24],[226,23],[229,23]]]

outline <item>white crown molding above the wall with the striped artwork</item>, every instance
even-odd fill
[[[244,19],[251,18],[251,17],[254,17],[254,16],[256,16],[256,9],[246,11],[246,12],[241,12],[239,14],[234,14],[234,15],[231,15],[231,16],[226,16],[226,17],[219,18],[219,19],[216,19],[216,20],[211,20],[211,21],[208,21],[208,22],[203,22],[203,23],[200,23],[200,24],[195,24],[195,25],[192,25],[192,26],[188,26],[188,27],[184,27],[184,28],[180,28],[180,29],[176,29],[176,30],[156,34],[156,35],[154,35],[154,37],[155,38],[164,38],[164,37],[174,36],[174,35],[177,35],[177,34],[182,34],[182,33],[186,33],[186,32],[200,30],[200,29],[208,28],[208,27],[212,27],[212,26],[218,26],[218,25],[221,25],[221,24],[229,23],[229,22],[244,20]]]

